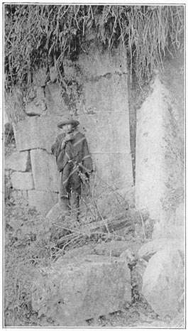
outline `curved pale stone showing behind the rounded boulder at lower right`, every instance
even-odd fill
[[[149,261],[149,259],[160,251],[161,249],[167,249],[167,247],[171,249],[177,249],[179,253],[184,254],[184,242],[178,239],[156,239],[152,242],[147,242],[142,247],[140,247],[138,251],[138,255],[145,259],[145,261]]]

